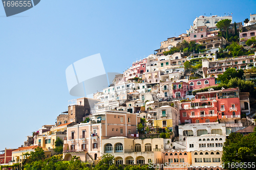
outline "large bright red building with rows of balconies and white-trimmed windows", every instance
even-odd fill
[[[238,88],[199,92],[195,98],[181,104],[181,123],[208,123],[218,119],[236,123],[241,117]]]

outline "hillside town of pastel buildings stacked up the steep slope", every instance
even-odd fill
[[[23,169],[40,148],[44,159],[62,154],[90,167],[112,155],[116,168],[223,169],[229,135],[256,127],[256,14],[248,17],[196,17],[93,98],[67,101],[55,124],[31,129],[21,147],[1,146],[0,166]]]

